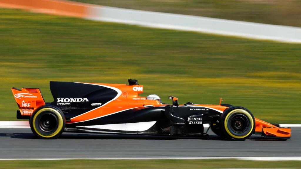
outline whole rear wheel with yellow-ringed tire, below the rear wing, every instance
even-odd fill
[[[56,106],[44,105],[33,112],[29,120],[33,134],[42,139],[56,139],[66,125],[64,113]]]

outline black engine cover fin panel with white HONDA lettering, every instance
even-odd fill
[[[50,90],[54,99],[51,104],[60,108],[67,119],[104,105],[118,94],[104,86],[75,82],[50,81]]]

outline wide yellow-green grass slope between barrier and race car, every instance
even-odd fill
[[[274,123],[300,123],[301,45],[151,29],[0,9],[0,121],[16,120],[11,87],[49,81],[144,85],[169,103],[244,106]]]

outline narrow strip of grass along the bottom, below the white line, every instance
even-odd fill
[[[245,160],[14,160],[0,161],[0,168],[301,168],[300,161],[245,161]]]

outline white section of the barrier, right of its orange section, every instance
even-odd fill
[[[86,18],[90,20],[301,43],[301,28],[292,26],[251,23],[106,6],[89,7],[87,15],[89,17]]]

